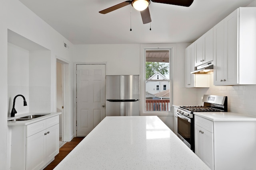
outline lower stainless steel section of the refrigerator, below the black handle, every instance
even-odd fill
[[[140,101],[109,102],[106,101],[106,116],[139,116]]]

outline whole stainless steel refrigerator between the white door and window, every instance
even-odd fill
[[[106,76],[106,116],[140,115],[140,76]]]

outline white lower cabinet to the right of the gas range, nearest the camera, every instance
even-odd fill
[[[212,170],[255,169],[256,121],[194,121],[195,154]]]

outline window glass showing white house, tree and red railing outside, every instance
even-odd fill
[[[170,64],[167,51],[146,51],[146,111],[170,111]]]

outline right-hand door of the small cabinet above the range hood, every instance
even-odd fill
[[[203,63],[213,60],[213,28],[203,36]]]

